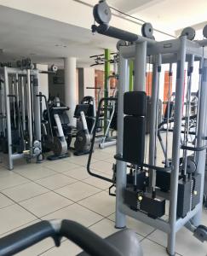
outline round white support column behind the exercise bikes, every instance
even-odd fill
[[[73,118],[77,104],[76,96],[76,58],[70,57],[64,59],[65,69],[65,104],[70,108],[68,117],[70,124],[76,126],[76,119]]]

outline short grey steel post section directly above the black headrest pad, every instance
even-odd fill
[[[135,91],[146,91],[147,42],[135,44]]]

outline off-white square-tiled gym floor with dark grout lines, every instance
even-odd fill
[[[94,172],[110,177],[113,154],[115,147],[96,149],[91,164]],[[5,163],[0,164],[0,237],[41,219],[54,218],[75,220],[101,237],[117,232],[115,198],[107,193],[111,183],[90,177],[85,167],[87,160],[88,155],[44,160],[40,165],[18,160],[14,172],[9,172]],[[135,230],[144,256],[167,255],[164,233],[132,218],[127,218],[127,226]],[[64,239],[56,248],[51,239],[46,239],[18,255],[64,256],[80,252],[71,241]],[[176,252],[181,256],[206,256],[207,246],[183,229],[177,234]]]

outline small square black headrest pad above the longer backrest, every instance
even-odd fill
[[[135,116],[146,116],[147,95],[144,91],[128,91],[124,93],[124,113]]]

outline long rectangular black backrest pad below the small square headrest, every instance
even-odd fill
[[[125,161],[140,166],[144,161],[146,117],[124,117],[124,150]]]

